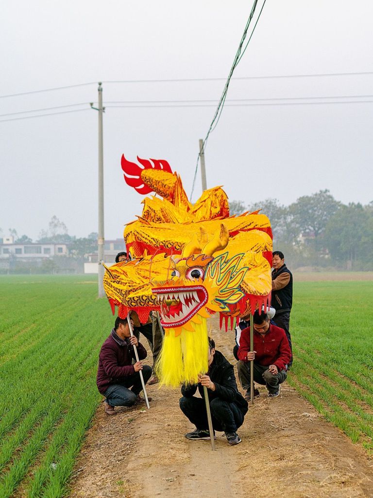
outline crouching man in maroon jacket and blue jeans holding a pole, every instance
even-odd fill
[[[132,320],[131,324],[133,326]],[[132,360],[136,358],[134,346],[140,361],[132,365]],[[108,415],[115,415],[115,406],[132,406],[143,401],[139,395],[143,389],[140,371],[145,383],[151,375],[151,367],[141,361],[146,357],[144,346],[138,343],[135,336],[131,337],[127,318],[117,317],[113,330],[101,347],[98,360],[97,387],[106,397],[104,404]]]

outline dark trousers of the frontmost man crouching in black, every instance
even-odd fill
[[[197,429],[209,430],[204,399],[195,396],[190,398],[183,396],[180,398],[179,403],[181,411]],[[214,430],[235,432],[243,423],[244,416],[234,403],[214,398],[210,401],[210,410]]]

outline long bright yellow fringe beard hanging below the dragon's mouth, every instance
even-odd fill
[[[199,318],[201,319],[201,316]],[[178,387],[181,383],[196,384],[198,375],[208,371],[209,340],[206,318],[202,318],[201,323],[191,320],[189,324],[192,324],[194,330],[183,328],[178,335],[172,328],[166,331],[155,365],[159,387]]]

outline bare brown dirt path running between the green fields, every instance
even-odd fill
[[[233,361],[232,333],[213,334]],[[178,407],[179,390],[149,386],[146,407],[97,410],[75,467],[72,498],[96,497],[373,497],[373,460],[328,424],[290,386],[261,397],[229,447],[184,438],[192,425]],[[194,427],[193,427],[194,429]]]

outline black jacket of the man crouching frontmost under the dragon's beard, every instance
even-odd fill
[[[207,389],[209,400],[211,401],[214,398],[220,398],[228,403],[234,403],[239,408],[242,415],[245,415],[248,410],[248,404],[242,394],[238,392],[233,365],[230,365],[220,351],[215,351],[214,361],[210,365],[207,375],[209,375],[215,384],[215,391]],[[181,394],[190,398],[195,394],[197,387],[201,396],[204,398],[205,392],[201,382],[192,385],[184,384],[181,387]]]

